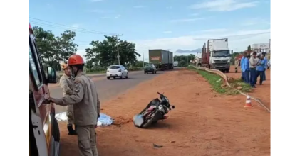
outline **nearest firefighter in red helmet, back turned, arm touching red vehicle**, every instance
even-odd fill
[[[80,55],[71,55],[68,66],[75,76],[73,94],[48,100],[60,105],[73,104],[74,123],[77,126],[78,147],[81,156],[98,156],[95,127],[100,116],[100,101],[94,82],[83,73],[84,61]]]

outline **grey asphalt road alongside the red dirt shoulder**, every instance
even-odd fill
[[[157,74],[144,74],[142,72],[129,73],[128,79],[100,79],[95,80],[95,85],[98,90],[99,99],[101,102],[111,99],[118,94],[123,93],[125,90],[135,87],[140,84],[140,82],[145,82],[153,77],[156,77],[159,74],[162,74],[162,71],[158,71]],[[61,98],[62,90],[60,87],[51,88],[51,97]],[[56,113],[66,111],[65,107],[56,106]]]

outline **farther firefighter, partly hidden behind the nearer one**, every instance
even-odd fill
[[[71,95],[73,94],[73,78],[71,77],[71,70],[66,63],[61,63],[61,69],[64,73],[59,80],[59,84],[61,85],[61,89],[63,89],[63,96]],[[76,130],[73,130],[73,105],[67,106],[66,116],[68,122],[68,135],[77,135]]]

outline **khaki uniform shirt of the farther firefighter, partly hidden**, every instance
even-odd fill
[[[61,89],[63,89],[63,97],[73,94],[73,79],[71,77],[63,74],[59,80],[59,84],[61,85]],[[73,112],[73,105],[68,105],[67,111]]]

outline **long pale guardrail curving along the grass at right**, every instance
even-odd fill
[[[231,87],[232,89],[234,89],[230,84],[229,84],[229,79],[227,77],[226,74],[224,74],[223,72],[217,70],[217,69],[209,69],[209,68],[206,68],[206,67],[197,67],[197,66],[190,66],[190,67],[194,67],[195,69],[199,69],[199,70],[204,70],[204,71],[207,71],[207,72],[211,72],[211,73],[214,73],[214,74],[218,74],[220,77],[222,77],[222,79],[224,79],[224,82],[227,84],[228,87]],[[238,89],[235,89],[239,92],[239,94],[242,94],[244,96],[247,96],[247,94],[243,93],[242,91],[239,91]],[[254,98],[253,96],[251,96],[251,99],[253,99],[254,101],[257,101],[257,103],[259,103],[261,106],[263,106],[266,111],[268,111],[270,113],[270,109],[267,108],[259,98]]]

